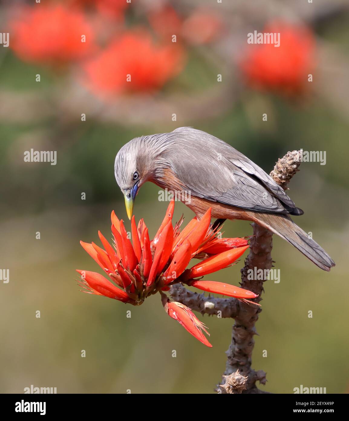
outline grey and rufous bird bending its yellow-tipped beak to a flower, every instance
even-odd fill
[[[182,200],[200,219],[211,208],[217,221],[252,221],[290,242],[318,267],[335,262],[293,220],[304,212],[266,172],[226,142],[192,127],[140,136],[124,144],[115,158],[115,178],[127,216],[140,187],[185,192]],[[189,200],[188,200],[189,198]],[[217,222],[216,221],[216,222]]]

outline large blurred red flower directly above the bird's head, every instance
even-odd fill
[[[155,91],[184,64],[177,44],[159,45],[145,31],[125,32],[85,64],[86,84],[102,97],[130,91]]]

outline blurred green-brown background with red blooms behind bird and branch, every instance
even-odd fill
[[[0,45],[0,242],[10,271],[0,282],[0,392],[213,393],[233,320],[198,315],[209,349],[156,296],[125,306],[74,281],[75,269],[99,269],[79,240],[98,240],[98,229],[110,238],[112,209],[127,219],[114,179],[119,148],[185,125],[267,173],[289,150],[326,151],[326,165],[301,164],[289,194],[304,209],[297,223],[337,266],[325,273],[274,238],[280,283],[264,284],[253,367],[267,372],[260,387],[270,392],[348,391],[348,9],[340,0],[0,2],[9,33]],[[280,47],[248,44],[255,30],[280,32]],[[30,149],[57,151],[57,164],[24,162]],[[151,235],[168,205],[158,191],[145,184],[135,202]],[[182,213],[193,217],[177,203],[174,221]],[[227,237],[251,232],[248,222],[225,224]],[[212,280],[238,285],[242,266]]]

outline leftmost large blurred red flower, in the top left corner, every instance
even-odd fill
[[[22,60],[64,64],[95,49],[93,30],[82,12],[62,5],[27,7],[22,12],[9,23],[10,46]]]

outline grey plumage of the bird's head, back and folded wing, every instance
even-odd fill
[[[160,176],[162,168],[170,167],[197,197],[249,210],[303,213],[262,168],[204,131],[180,127],[132,139],[116,155],[119,187],[129,187],[130,174],[147,161],[153,163],[148,176]]]

